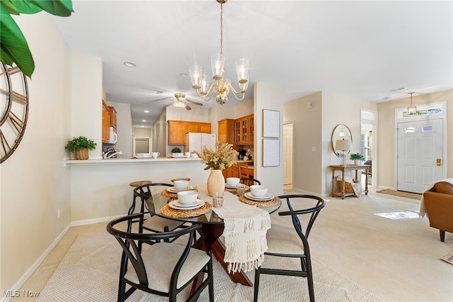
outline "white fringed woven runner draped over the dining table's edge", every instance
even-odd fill
[[[200,199],[212,204],[205,185],[197,186]],[[239,201],[238,196],[224,192],[224,206],[212,207],[223,218],[225,228],[225,257],[228,272],[251,271],[263,263],[268,250],[266,233],[270,229],[270,214],[256,206]]]

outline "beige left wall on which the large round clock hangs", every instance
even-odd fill
[[[71,73],[76,72],[72,62],[83,60],[71,57],[46,13],[22,14],[15,20],[28,40],[35,72],[28,79],[30,110],[23,140],[0,165],[1,291],[18,289],[18,282],[25,281],[69,225],[64,145],[71,135],[86,134],[82,128],[71,131],[71,85],[77,85],[71,84]]]

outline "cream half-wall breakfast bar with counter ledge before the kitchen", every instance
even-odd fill
[[[171,184],[174,178],[190,178],[204,184],[210,171],[200,158],[67,160],[71,177],[71,221],[73,225],[109,221],[127,214],[132,204],[133,181]]]

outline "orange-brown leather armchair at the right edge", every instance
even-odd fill
[[[440,231],[440,241],[445,241],[445,232],[453,233],[453,179],[439,181],[423,193],[426,214],[430,227]]]

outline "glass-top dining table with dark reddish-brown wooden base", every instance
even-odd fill
[[[201,223],[202,228],[199,229],[200,238],[198,238],[198,240],[193,244],[193,247],[199,250],[210,250],[217,261],[222,264],[222,267],[224,267],[226,273],[229,274],[232,281],[246,286],[252,286],[252,282],[250,281],[250,279],[248,279],[248,276],[246,276],[244,272],[228,272],[228,264],[224,262],[225,246],[222,240],[219,239],[224,231],[224,220],[217,215],[216,208],[212,208],[212,197],[210,197],[207,192],[207,186],[205,184],[198,185],[196,186],[196,189],[198,191],[198,198],[210,204],[209,209],[205,211],[205,213],[190,217],[165,215],[161,212],[162,208],[166,206],[166,204],[170,201],[178,198],[176,193],[168,191],[168,189],[161,191],[159,198],[155,198],[158,197],[156,196],[156,193],[153,194],[153,198],[151,198],[150,200],[151,202],[148,203],[149,212],[156,216],[173,220],[185,221],[188,223]],[[241,199],[244,200],[244,196],[240,198],[239,196],[236,196],[234,190],[228,190],[229,189],[226,189],[226,191],[224,191],[224,207],[234,207],[235,203],[237,204],[238,202],[241,202]],[[250,206],[258,206],[258,208],[262,208],[268,213],[277,211],[281,206],[280,198],[278,198],[277,196],[274,196],[272,204],[253,201],[251,203],[253,205]],[[174,213],[177,214],[177,211]],[[198,278],[198,280],[199,282],[201,282],[202,277]]]

